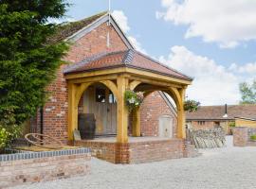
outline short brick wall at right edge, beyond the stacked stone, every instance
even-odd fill
[[[256,146],[256,141],[250,139],[250,136],[255,134],[256,128],[235,127],[233,128],[233,145]]]

